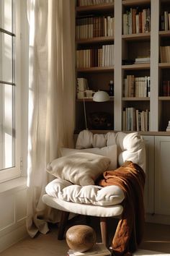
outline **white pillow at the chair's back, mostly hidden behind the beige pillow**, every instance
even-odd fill
[[[117,168],[117,145],[110,145],[104,148],[85,148],[81,150],[74,148],[60,148],[61,156],[71,155],[76,152],[104,155],[110,160],[107,170],[115,170],[115,168]]]

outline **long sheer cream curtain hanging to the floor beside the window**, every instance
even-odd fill
[[[29,138],[27,230],[48,231],[56,221],[41,200],[49,181],[46,166],[58,148],[73,146],[74,1],[27,0],[29,44]]]

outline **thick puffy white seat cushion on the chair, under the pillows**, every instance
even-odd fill
[[[103,206],[117,205],[125,198],[122,189],[115,185],[108,187],[97,185],[81,187],[63,179],[54,179],[45,187],[45,191],[48,195],[67,202]]]

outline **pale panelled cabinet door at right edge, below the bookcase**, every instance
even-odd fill
[[[155,137],[155,213],[170,216],[170,136]]]

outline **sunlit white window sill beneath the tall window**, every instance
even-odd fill
[[[0,194],[25,188],[27,188],[27,177],[19,177],[17,179],[11,179],[7,182],[2,182],[0,185]]]

